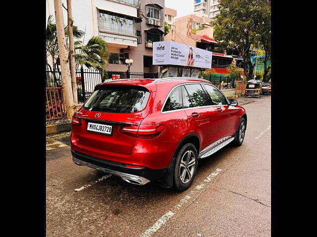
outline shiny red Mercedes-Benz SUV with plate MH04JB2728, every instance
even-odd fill
[[[240,146],[247,115],[211,82],[121,79],[98,84],[74,115],[74,163],[144,185],[190,187],[198,160]]]

